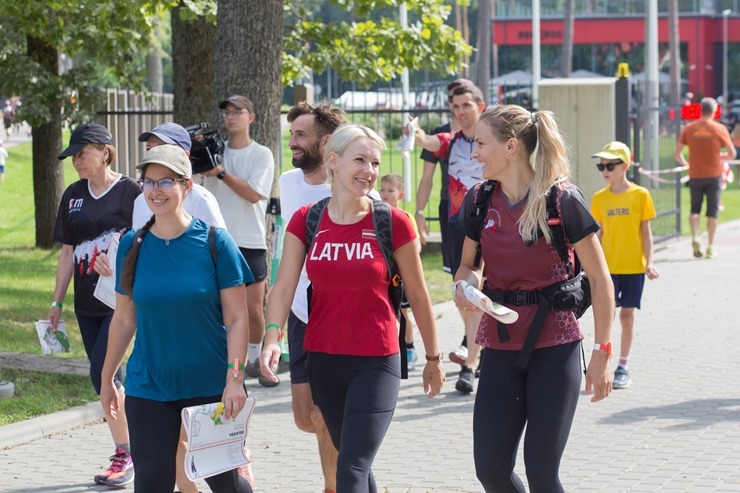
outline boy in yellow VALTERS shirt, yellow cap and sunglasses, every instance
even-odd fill
[[[614,282],[616,303],[621,307],[622,342],[612,386],[623,389],[632,383],[627,362],[634,337],[635,308],[640,308],[645,276],[652,280],[659,275],[653,266],[650,230],[650,220],[656,215],[655,206],[646,188],[627,180],[632,161],[627,145],[610,142],[593,157],[600,158],[596,166],[607,183],[607,187],[591,199],[591,214],[601,224],[597,234]]]

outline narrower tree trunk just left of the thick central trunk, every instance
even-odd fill
[[[189,126],[210,122],[213,115],[213,37],[216,26],[205,17],[193,22],[180,20],[180,11],[172,10],[172,92],[174,120]]]

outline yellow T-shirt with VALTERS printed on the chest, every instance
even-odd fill
[[[591,199],[591,214],[603,228],[601,245],[609,273],[644,274],[642,222],[656,215],[650,192],[634,183],[619,194],[603,188]]]

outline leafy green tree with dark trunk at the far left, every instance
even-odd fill
[[[149,42],[147,8],[115,0],[0,0],[0,93],[23,96],[18,116],[33,127],[38,247],[54,244],[64,184],[57,160],[62,122],[91,117],[100,101],[95,74],[101,67],[141,87],[142,67],[133,62]],[[76,64],[60,74],[62,53],[76,56]]]

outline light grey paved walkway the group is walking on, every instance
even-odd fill
[[[632,386],[578,404],[561,467],[569,492],[740,491],[740,222],[720,227],[717,259],[692,258],[689,243],[681,239],[656,254],[661,277],[646,282],[636,316]],[[446,353],[462,324],[451,303],[435,309]],[[584,325],[590,340],[590,314]],[[618,347],[618,325],[613,340]],[[474,394],[456,392],[457,368],[446,368],[444,392],[433,400],[422,394],[418,370],[402,382],[374,466],[381,491],[482,491],[472,458]],[[248,438],[257,491],[320,492],[316,441],[292,422],[289,386],[249,383],[257,397]],[[111,451],[100,422],[0,450],[0,491],[107,491],[91,483]],[[524,477],[521,447],[516,469]],[[201,491],[209,491],[205,483]]]

